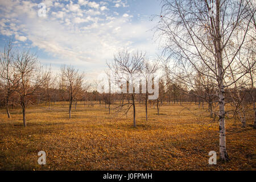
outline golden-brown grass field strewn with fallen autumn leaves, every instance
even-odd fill
[[[189,107],[190,110],[185,109]],[[31,106],[27,127],[22,111],[7,118],[0,110],[1,170],[255,170],[256,130],[226,119],[226,145],[230,162],[209,165],[209,151],[218,155],[218,122],[192,105],[137,105],[137,127],[132,113],[108,114],[104,105]],[[38,152],[46,151],[46,165],[38,164]]]

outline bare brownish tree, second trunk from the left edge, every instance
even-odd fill
[[[20,106],[23,113],[23,125],[26,123],[26,108],[31,102],[31,96],[36,94],[49,76],[49,70],[44,71],[38,58],[29,51],[18,52],[14,61],[15,76],[19,80],[16,92],[19,95]]]

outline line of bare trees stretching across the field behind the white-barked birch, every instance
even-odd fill
[[[162,61],[163,64],[160,64],[159,60],[149,61],[146,59],[146,54],[142,52],[122,50],[114,56],[112,63],[108,63],[109,71],[113,71],[115,77],[127,76],[125,78],[127,81],[126,88],[123,89],[123,85],[119,85],[122,91],[125,91],[121,93],[112,92],[113,90],[111,88],[113,88],[113,85],[117,85],[117,80],[111,80],[109,72],[107,74],[108,84],[106,84],[108,85],[106,90],[109,92],[99,93],[96,90],[89,91],[90,85],[85,84],[84,73],[79,73],[77,69],[71,66],[61,66],[60,74],[53,77],[50,69],[45,68],[42,71],[43,67],[39,64],[39,61],[34,55],[30,55],[29,52],[22,53],[23,57],[26,55],[26,59],[23,59],[26,62],[20,61],[22,59],[19,56],[18,58],[14,56],[11,43],[5,48],[4,52],[1,57],[0,84],[1,94],[4,97],[1,98],[0,104],[6,107],[8,118],[11,117],[9,111],[10,105],[13,107],[17,105],[22,106],[24,126],[26,126],[26,108],[28,104],[41,104],[45,102],[48,105],[48,110],[50,110],[51,103],[56,104],[59,101],[68,101],[69,118],[71,118],[72,105],[76,109],[78,101],[84,101],[84,104],[86,101],[86,103],[90,101],[91,105],[95,104],[93,101],[97,101],[100,105],[104,102],[105,107],[108,107],[109,114],[111,109],[117,113],[123,112],[123,114],[127,114],[130,109],[133,109],[134,127],[136,127],[136,103],[145,106],[145,118],[146,121],[148,120],[148,96],[152,94],[148,90],[150,89],[148,88],[148,81],[150,81],[151,76],[154,82],[156,74],[160,74],[158,80],[158,98],[149,102],[154,104],[154,107],[156,105],[158,114],[160,105],[163,103],[182,105],[183,102],[189,102],[190,104],[195,102],[199,108],[202,107],[202,109],[208,111],[210,117],[215,118],[217,115],[218,110],[216,106],[218,104],[218,96],[212,78],[200,75],[200,72],[194,76],[177,76],[170,71],[170,66],[167,65],[168,62],[166,60]],[[22,65],[24,68],[19,69]],[[32,68],[35,70],[34,75],[31,74]],[[206,73],[207,69],[204,69],[204,71]],[[136,73],[142,74],[144,83],[141,82],[142,80],[138,80],[139,77],[136,77]],[[19,77],[18,74],[20,74]],[[43,75],[39,76],[40,74]],[[226,113],[231,113],[233,117],[239,119],[242,127],[246,125],[246,118],[251,118],[251,105],[253,105],[255,111],[255,102],[253,102],[255,98],[255,89],[253,87],[255,81],[253,76],[255,72],[251,71],[248,74],[251,84],[237,89],[239,82],[236,82],[235,88],[230,87],[230,89],[226,89],[226,103],[233,106]],[[185,82],[185,78],[189,79],[189,82]],[[100,84],[106,86],[105,82],[101,83],[101,80],[98,80],[96,85]],[[142,93],[143,84],[146,88],[146,92],[144,93]],[[149,84],[154,88],[152,82]],[[135,92],[135,87],[138,87],[138,85],[139,90]],[[129,87],[133,88],[133,90],[129,90]],[[205,105],[208,106],[205,107]]]

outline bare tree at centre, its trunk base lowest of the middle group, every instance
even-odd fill
[[[135,95],[139,93],[139,79],[138,75],[141,73],[143,67],[145,53],[133,52],[129,53],[123,49],[118,51],[117,55],[114,55],[112,63],[107,63],[110,70],[113,72],[114,77],[118,78],[118,82],[115,84],[122,84],[119,88],[122,88],[122,103],[117,107],[118,110],[124,109],[125,114],[133,107],[133,126],[136,127],[136,107],[135,107]],[[127,88],[128,85],[128,88]],[[125,94],[131,97],[132,102],[124,103]]]

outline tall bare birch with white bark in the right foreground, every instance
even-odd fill
[[[225,137],[225,88],[246,72],[238,68],[237,55],[252,28],[255,7],[249,0],[163,0],[158,30],[166,40],[165,51],[185,65],[185,70],[204,64],[218,90],[220,158],[229,160]],[[249,11],[251,9],[252,11]],[[240,39],[234,39],[236,35]],[[232,69],[232,70],[230,70]],[[183,70],[184,71],[184,70]],[[230,72],[236,80],[229,81]]]

